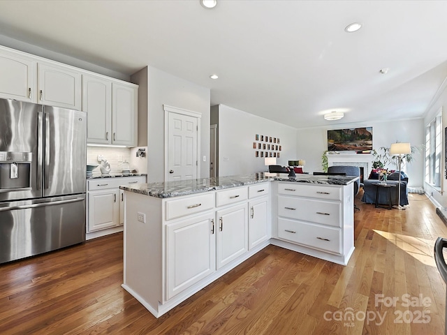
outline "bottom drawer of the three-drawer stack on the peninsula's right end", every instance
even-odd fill
[[[278,218],[278,237],[310,248],[342,253],[340,229]]]

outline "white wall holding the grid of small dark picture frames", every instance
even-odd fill
[[[256,134],[279,137],[282,151],[278,165],[302,158],[296,155],[296,133],[290,126],[219,105],[219,176],[267,171],[264,158],[255,157]]]

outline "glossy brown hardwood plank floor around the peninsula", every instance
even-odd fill
[[[120,286],[122,233],[1,265],[0,334],[444,334],[432,254],[447,228],[425,195],[409,201],[358,196],[346,267],[268,246],[159,319]]]

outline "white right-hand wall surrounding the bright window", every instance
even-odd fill
[[[447,80],[447,78],[446,78]],[[432,188],[430,184],[425,183],[424,181],[424,189],[427,192],[428,195],[431,195],[433,193],[433,198],[435,202],[438,202],[442,207],[447,207],[447,194],[444,193],[447,186],[446,181],[446,174],[445,174],[445,150],[446,150],[446,142],[444,138],[444,129],[447,127],[447,83],[444,81],[443,85],[439,89],[439,95],[434,98],[434,101],[432,102],[431,107],[429,110],[427,110],[427,114],[424,118],[424,124],[423,128],[425,131],[425,126],[427,124],[430,124],[431,121],[433,121],[434,117],[437,116],[439,110],[442,107],[442,131],[441,131],[441,137],[442,137],[442,154],[441,154],[441,173],[443,174],[443,177],[441,179],[441,191],[437,190],[436,188]]]

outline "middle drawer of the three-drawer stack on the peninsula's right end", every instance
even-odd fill
[[[286,218],[341,227],[342,204],[323,200],[293,198],[279,195],[278,215]]]

